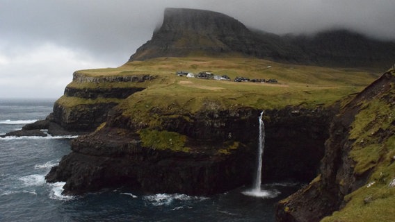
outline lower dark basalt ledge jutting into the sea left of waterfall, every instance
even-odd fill
[[[251,180],[253,156],[246,147],[233,155],[184,153],[140,146],[136,135],[120,129],[79,137],[72,153],[46,176],[66,181],[65,194],[127,186],[155,193],[216,194]],[[135,138],[134,138],[135,137]],[[234,177],[234,175],[238,175]]]

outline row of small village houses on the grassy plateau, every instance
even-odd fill
[[[227,75],[216,75],[213,74],[211,71],[201,71],[199,74],[193,74],[191,72],[188,71],[177,71],[176,72],[177,76],[186,76],[187,78],[202,78],[202,79],[212,79],[212,80],[226,80],[226,81],[230,81],[231,78],[229,78],[229,76]],[[234,78],[233,80],[234,82],[237,83],[241,83],[241,82],[252,82],[252,83],[278,83],[278,81],[274,78],[271,79],[250,79],[250,78],[245,78],[245,77],[241,77],[241,76],[236,76],[236,78]]]

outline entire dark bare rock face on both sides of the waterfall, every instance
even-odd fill
[[[245,108],[201,112],[189,121],[168,117],[163,126],[188,135],[191,152],[143,147],[127,124],[117,128],[108,122],[102,130],[74,140],[72,153],[51,170],[47,181],[66,181],[68,194],[123,185],[148,192],[204,195],[249,186],[257,158],[259,113]],[[331,117],[328,110],[266,111],[264,179],[312,179]],[[219,153],[229,140],[239,145]]]

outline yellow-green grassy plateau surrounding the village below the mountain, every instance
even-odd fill
[[[211,71],[247,78],[274,78],[278,83],[235,83],[233,81],[205,80],[179,77],[176,71]],[[189,112],[202,108],[204,101],[217,101],[224,107],[234,105],[252,108],[282,108],[285,105],[315,106],[330,104],[342,97],[360,92],[378,77],[360,69],[325,68],[289,65],[257,58],[155,58],[128,62],[111,69],[78,71],[86,76],[133,76],[151,74],[154,80],[145,83],[70,83],[72,87],[147,87],[127,99],[124,108],[144,110],[148,106],[166,106],[177,103]]]

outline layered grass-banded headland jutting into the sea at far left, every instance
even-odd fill
[[[149,74],[88,76],[75,71],[65,94],[54,103],[45,120],[28,124],[3,136],[83,135],[91,133],[107,119],[108,112],[131,94],[145,87],[139,84],[153,80]]]

